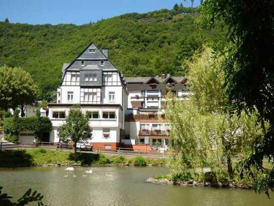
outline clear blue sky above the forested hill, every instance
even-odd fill
[[[121,14],[171,9],[175,3],[191,6],[186,0],[0,0],[0,21],[11,23],[77,25]],[[200,0],[194,0],[194,6]]]

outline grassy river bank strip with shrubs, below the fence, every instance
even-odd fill
[[[103,154],[74,153],[62,150],[28,149],[0,151],[0,167],[39,166],[41,164],[132,164],[146,166],[147,164],[165,165],[166,159],[148,157],[106,156]]]

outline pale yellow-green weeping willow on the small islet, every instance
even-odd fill
[[[233,177],[233,152],[241,146],[248,148],[256,135],[263,134],[267,122],[258,121],[256,110],[239,115],[230,109],[224,86],[223,57],[204,48],[202,55],[193,60],[189,64],[189,87],[193,95],[189,101],[170,96],[165,111],[172,126],[171,149],[180,151],[171,171],[176,174],[205,165],[223,170],[226,163],[227,172]]]

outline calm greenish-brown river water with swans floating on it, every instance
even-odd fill
[[[145,183],[149,177],[168,173],[164,167],[64,167],[0,169],[3,192],[21,197],[28,188],[44,195],[47,205],[274,205],[274,194],[253,190],[180,187]],[[92,174],[85,171],[92,169]],[[86,175],[86,177],[85,177]],[[37,205],[30,204],[30,205]]]

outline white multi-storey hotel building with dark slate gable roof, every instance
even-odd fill
[[[167,84],[179,98],[186,98],[185,77],[127,77],[91,43],[72,62],[63,66],[63,80],[56,104],[48,105],[52,121],[50,142],[59,142],[58,128],[70,108],[80,104],[88,114],[93,146],[137,149],[167,148],[169,123],[158,122],[156,114],[165,107]]]

